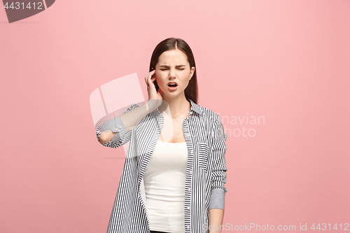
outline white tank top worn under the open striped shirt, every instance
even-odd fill
[[[144,185],[150,229],[185,232],[184,202],[187,146],[158,141],[148,162]]]

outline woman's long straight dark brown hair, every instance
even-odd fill
[[[183,41],[181,38],[167,38],[164,41],[158,43],[152,53],[151,63],[150,63],[150,72],[155,69],[155,65],[158,63],[158,58],[162,55],[163,52],[168,50],[179,49],[187,55],[188,62],[190,63],[190,69],[195,66],[195,73],[193,73],[192,78],[190,79],[188,86],[185,89],[185,97],[188,101],[192,99],[193,102],[197,104],[198,97],[198,85],[197,85],[197,68],[195,65],[195,57],[190,48],[190,45]],[[158,92],[159,86],[156,80],[154,80],[155,90]]]

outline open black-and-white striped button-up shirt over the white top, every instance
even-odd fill
[[[189,116],[183,120],[188,149],[185,181],[184,223],[186,233],[209,232],[209,209],[225,209],[227,134],[218,114],[190,100]],[[132,104],[125,113],[138,108]],[[122,176],[113,204],[107,233],[149,233],[143,176],[158,142],[164,116],[155,109],[128,130],[119,117],[97,127],[116,135],[102,145],[118,148],[130,141]]]

